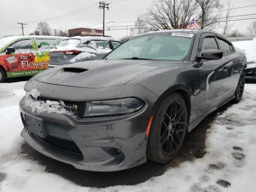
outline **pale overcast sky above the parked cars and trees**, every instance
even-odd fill
[[[224,3],[224,9],[226,9],[226,0],[221,1]],[[96,5],[98,2],[99,0],[12,0],[11,2],[0,0],[0,38],[4,35],[22,34],[22,29],[19,28],[21,26],[18,25],[17,22],[44,20],[90,6],[94,3],[94,5],[88,7],[86,10],[81,10],[81,13],[79,14],[51,20],[48,21],[48,24],[52,29],[66,30],[98,24],[103,20],[103,10],[98,8],[98,4]],[[231,0],[231,3],[232,6],[236,8],[256,4],[256,1]],[[116,23],[110,22],[106,27],[134,24],[134,22],[123,21],[135,21],[140,14],[146,13],[147,8],[149,8],[151,4],[151,0],[120,0],[120,2],[110,4],[110,9],[105,11],[105,22],[114,21]],[[256,6],[234,10],[234,15],[242,14],[256,14]],[[233,28],[246,33],[246,27],[252,21],[253,20],[236,21]],[[24,28],[24,34],[28,35],[33,32],[36,25],[37,22],[28,23]],[[98,28],[101,26],[102,24],[98,24],[91,28]],[[114,38],[119,39],[126,36],[126,30],[107,30],[106,35],[111,35]]]

